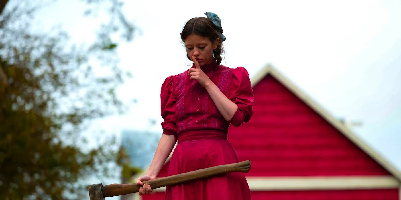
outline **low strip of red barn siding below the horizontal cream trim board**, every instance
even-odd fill
[[[260,191],[251,196],[252,200],[398,200],[398,190]],[[164,200],[164,192],[144,195],[142,200]]]

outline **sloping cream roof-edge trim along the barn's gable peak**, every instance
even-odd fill
[[[300,88],[298,88],[295,84],[293,84],[288,78],[286,78],[283,74],[277,71],[273,66],[267,64],[264,68],[262,68],[255,77],[251,79],[252,87],[259,83],[265,76],[271,75],[278,82],[283,84],[288,90],[290,90],[293,94],[295,94],[298,98],[300,98],[304,103],[306,103],[310,108],[312,108],[316,113],[318,113],[322,118],[324,118],[327,122],[329,122],[334,128],[340,131],[346,138],[351,140],[356,146],[358,146],[361,150],[363,150],[366,154],[371,156],[376,162],[378,162],[383,168],[388,170],[397,180],[401,182],[401,172],[397,170],[390,162],[388,162],[383,156],[381,156],[378,152],[373,150],[368,144],[366,144],[361,138],[359,138],[356,134],[354,134],[347,126],[345,126],[342,122],[334,118],[328,111],[326,111],[322,106],[320,106],[317,102],[312,100],[307,94],[305,94]]]

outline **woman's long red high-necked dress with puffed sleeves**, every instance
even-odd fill
[[[252,116],[254,97],[249,74],[243,67],[233,69],[216,62],[201,69],[238,105],[238,110],[231,120],[225,120],[207,90],[197,80],[190,80],[188,70],[166,78],[161,88],[161,125],[163,134],[174,135],[178,140],[168,176],[239,162],[227,141],[227,132],[230,124],[240,126]],[[233,172],[167,186],[165,199],[250,200],[251,193],[245,174]]]

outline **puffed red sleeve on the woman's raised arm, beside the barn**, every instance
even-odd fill
[[[234,126],[249,122],[253,115],[252,104],[254,96],[251,80],[245,68],[237,67],[233,70],[233,79],[228,98],[238,106],[233,118],[228,122]]]

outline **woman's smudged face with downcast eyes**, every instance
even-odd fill
[[[185,41],[186,53],[189,58],[192,56],[199,62],[199,66],[209,64],[213,60],[213,50],[217,47],[212,44],[209,38],[204,38],[196,34],[190,34]]]

